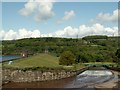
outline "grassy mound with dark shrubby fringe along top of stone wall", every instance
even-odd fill
[[[0,63],[1,64],[1,63]],[[11,64],[9,61],[3,62],[2,67],[10,69],[27,70],[79,70],[85,67],[84,64],[74,64],[71,66],[59,65],[59,58],[50,54],[40,53],[31,57],[13,60]]]

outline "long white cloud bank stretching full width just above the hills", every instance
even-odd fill
[[[13,40],[21,38],[37,38],[37,37],[65,37],[65,38],[79,38],[88,35],[108,35],[108,36],[118,36],[118,27],[104,27],[103,25],[97,23],[92,26],[80,25],[79,27],[67,26],[62,30],[58,30],[53,33],[42,34],[40,30],[27,30],[25,28],[19,29],[18,31],[0,31],[2,40]]]

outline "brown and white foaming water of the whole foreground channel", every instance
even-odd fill
[[[86,70],[83,73],[66,79],[31,83],[8,83],[4,88],[93,88],[103,82],[116,78],[109,70]],[[118,79],[118,77],[116,78]]]

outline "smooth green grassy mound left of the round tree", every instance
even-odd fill
[[[49,54],[38,54],[28,58],[22,58],[14,60],[11,65],[8,62],[3,63],[3,66],[7,67],[58,67],[58,57],[54,57]]]

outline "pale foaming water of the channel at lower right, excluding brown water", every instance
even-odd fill
[[[89,88],[96,84],[113,79],[115,76],[109,70],[86,70],[76,76],[73,83],[68,84],[68,88]]]

